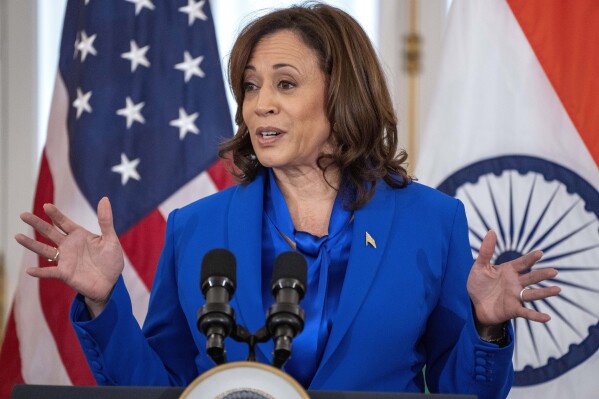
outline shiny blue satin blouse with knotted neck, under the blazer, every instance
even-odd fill
[[[316,237],[297,231],[272,170],[265,185],[262,223],[262,299],[264,311],[273,304],[271,277],[275,258],[291,251],[286,236],[308,263],[308,287],[300,303],[305,311],[304,330],[293,340],[291,358],[284,370],[304,387],[318,368],[337,311],[352,238],[352,212],[337,195],[329,222],[329,234]]]

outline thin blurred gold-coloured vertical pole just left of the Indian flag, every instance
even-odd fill
[[[408,173],[413,174],[418,151],[418,81],[421,70],[421,37],[418,33],[418,0],[408,1],[408,33],[404,36],[404,70],[407,73],[407,151],[411,161]]]

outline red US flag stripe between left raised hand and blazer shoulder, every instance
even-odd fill
[[[155,209],[119,237],[123,251],[148,290],[152,288],[165,233],[166,221]]]

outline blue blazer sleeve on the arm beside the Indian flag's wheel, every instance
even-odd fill
[[[473,263],[464,205],[457,202],[444,279],[425,336],[426,382],[431,392],[460,392],[479,399],[507,397],[513,382],[513,331],[500,348],[480,339],[466,291]],[[508,323],[509,324],[509,323]]]

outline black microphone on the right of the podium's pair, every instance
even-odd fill
[[[304,329],[304,310],[299,302],[306,292],[306,259],[299,252],[283,252],[275,260],[272,294],[275,303],[266,325],[274,340],[273,366],[281,368],[291,356],[291,341]]]

